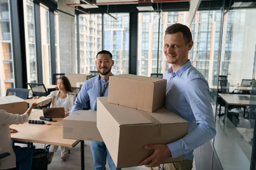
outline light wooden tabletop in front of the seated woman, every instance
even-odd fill
[[[29,120],[40,120],[40,116],[43,116],[43,111],[33,109]],[[53,118],[53,120],[57,122],[44,121],[50,125],[29,124],[28,122],[20,125],[11,125],[11,128],[19,131],[17,133],[11,133],[12,140],[74,147],[79,142],[78,140],[63,139],[62,137],[62,119],[63,118]]]

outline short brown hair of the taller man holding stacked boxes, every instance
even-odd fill
[[[176,23],[166,28],[165,34],[175,34],[177,32],[181,32],[183,34],[183,39],[186,44],[192,41],[192,34],[189,27]]]

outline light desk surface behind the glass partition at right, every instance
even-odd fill
[[[244,95],[244,94],[218,94],[221,99],[223,99],[228,105],[241,105],[241,106],[247,106],[249,105],[249,100],[240,100],[239,96],[247,96],[250,97],[250,95]]]

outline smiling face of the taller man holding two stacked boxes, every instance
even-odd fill
[[[164,38],[163,52],[168,63],[174,65],[183,65],[188,60],[189,50],[193,46],[193,41],[186,44],[183,34],[177,32],[174,34],[166,34]]]

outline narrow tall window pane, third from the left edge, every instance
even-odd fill
[[[51,57],[50,57],[50,35],[49,35],[49,10],[40,6],[41,22],[41,44],[43,81],[45,85],[51,84]]]

